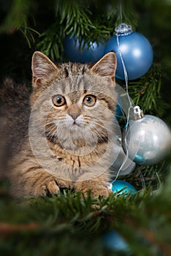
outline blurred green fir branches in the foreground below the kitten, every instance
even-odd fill
[[[130,255],[152,256],[153,250],[165,255],[171,249],[170,181],[156,192],[142,189],[107,198],[64,191],[16,202],[1,195],[1,255],[121,255],[103,244],[110,230],[125,239]]]

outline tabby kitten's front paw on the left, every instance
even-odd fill
[[[35,195],[58,195],[59,190],[56,181],[50,179],[35,189]]]

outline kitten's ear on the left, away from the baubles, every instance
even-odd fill
[[[41,83],[42,80],[46,80],[50,77],[50,74],[58,70],[58,67],[39,51],[33,54],[31,68],[34,83]]]

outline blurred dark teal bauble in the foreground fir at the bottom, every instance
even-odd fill
[[[130,252],[129,246],[124,238],[115,230],[105,233],[102,236],[102,242],[107,249],[117,252]]]

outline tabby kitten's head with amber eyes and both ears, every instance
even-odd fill
[[[115,110],[114,53],[93,67],[71,63],[56,67],[37,52],[32,69],[31,101],[50,141],[82,147],[108,139]]]

